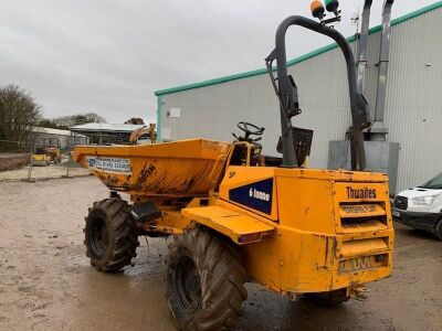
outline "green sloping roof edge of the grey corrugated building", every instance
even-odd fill
[[[432,4],[425,6],[421,9],[418,9],[415,11],[412,11],[408,14],[404,14],[402,17],[399,17],[394,20],[391,21],[391,25],[398,25],[400,23],[403,23],[408,20],[411,20],[413,18],[417,18],[421,14],[428,13],[430,11],[433,11],[438,8],[442,7],[442,1],[438,1],[434,2]],[[369,34],[373,34],[376,32],[381,31],[381,25],[376,25],[369,29],[368,33]],[[355,35],[351,35],[349,38],[347,38],[347,41],[354,42],[356,40]],[[298,57],[295,57],[293,60],[290,60],[287,62],[287,65],[295,65],[298,64],[301,62],[304,62],[306,60],[309,60],[312,57],[318,56],[323,53],[326,53],[328,51],[332,51],[334,49],[336,49],[338,45],[336,43],[332,43],[328,44],[326,46],[319,47],[317,50],[314,50],[309,53],[306,53],[304,55],[301,55]],[[199,87],[206,87],[206,86],[210,86],[210,85],[217,85],[217,84],[221,84],[221,83],[227,83],[230,81],[235,81],[235,79],[241,79],[241,78],[249,78],[249,77],[253,77],[253,76],[257,76],[257,75],[262,75],[267,73],[266,68],[260,68],[260,70],[254,70],[254,71],[249,71],[249,72],[243,72],[243,73],[239,73],[239,74],[233,74],[233,75],[229,75],[229,76],[222,76],[222,77],[218,77],[218,78],[213,78],[213,79],[208,79],[208,81],[202,81],[202,82],[198,82],[198,83],[193,83],[193,84],[187,84],[187,85],[180,85],[180,86],[176,86],[176,87],[170,87],[170,88],[165,88],[165,89],[158,89],[155,90],[154,94],[156,96],[160,96],[160,95],[166,95],[166,94],[172,94],[172,93],[177,93],[177,92],[182,92],[182,90],[188,90],[188,89],[194,89],[194,88],[199,88]]]

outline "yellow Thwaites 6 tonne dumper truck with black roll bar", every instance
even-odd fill
[[[328,35],[343,50],[352,115],[351,171],[305,168],[313,131],[292,127],[301,110],[286,68],[291,25]],[[139,235],[172,236],[167,299],[181,330],[229,329],[242,313],[246,280],[334,306],[364,284],[391,275],[388,178],[366,171],[367,104],[356,90],[346,39],[324,22],[290,17],[266,63],[281,104],[282,158],[262,153],[264,128],[249,122],[239,124],[243,134],[232,143],[78,146],[73,153],[110,190],[86,217],[91,264],[101,271],[119,270],[136,256]]]

